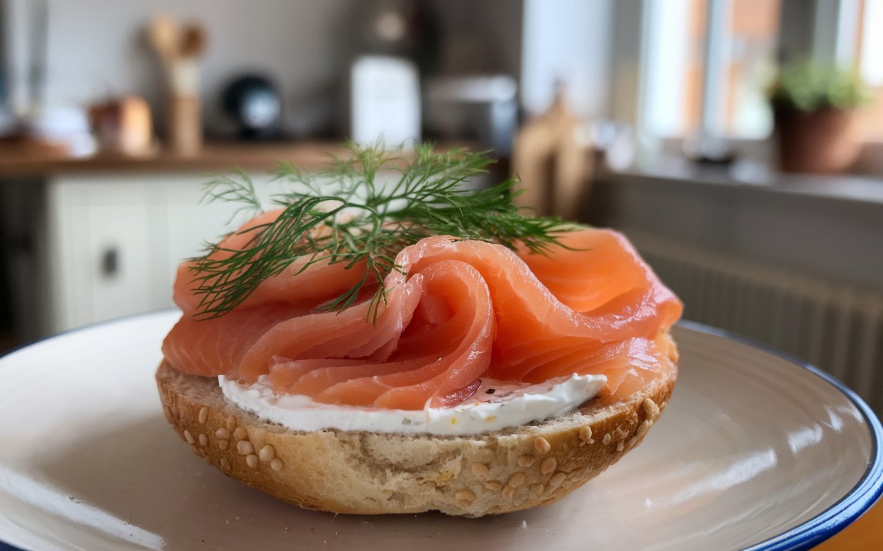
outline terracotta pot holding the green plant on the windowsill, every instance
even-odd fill
[[[777,108],[775,130],[779,168],[785,172],[842,172],[861,150],[856,137],[856,112],[852,110]]]

